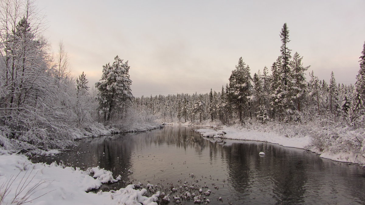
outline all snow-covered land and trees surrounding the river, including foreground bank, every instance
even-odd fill
[[[365,44],[355,85],[336,84],[333,73],[329,83],[313,72],[307,81],[309,66],[299,53],[291,56],[285,23],[271,74],[265,67],[251,77],[241,57],[221,92],[135,98],[128,61],[116,56],[89,87],[84,72],[71,75],[62,42],[50,52],[33,1],[9,0],[0,9],[0,204],[157,204],[160,193],[147,197],[141,185],[87,193],[118,181],[102,167],[34,164],[19,154],[55,155],[76,139],[147,131],[161,123],[208,125],[217,129],[197,131],[365,164]]]

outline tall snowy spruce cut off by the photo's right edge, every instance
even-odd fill
[[[356,76],[350,109],[350,121],[356,128],[364,127],[365,125],[365,42],[362,46],[361,54],[359,61],[360,70]]]

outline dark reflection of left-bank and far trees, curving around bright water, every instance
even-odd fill
[[[166,126],[148,132],[136,132],[101,136],[80,140],[78,147],[54,157],[39,158],[35,161],[64,161],[68,166],[105,168],[115,175],[125,173],[131,168],[131,155],[141,149],[168,145],[176,148],[192,148],[198,155],[207,147],[208,142],[191,131],[191,127]],[[79,153],[77,153],[79,152]],[[86,153],[84,153],[86,152]],[[142,156],[141,156],[142,157]],[[123,169],[121,169],[123,167]],[[125,170],[126,169],[126,170]]]

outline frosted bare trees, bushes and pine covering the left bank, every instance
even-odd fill
[[[34,1],[0,5],[0,150],[56,154],[75,139],[160,127],[133,107],[128,61],[102,67],[95,87],[73,77],[62,42],[57,53],[43,36]]]

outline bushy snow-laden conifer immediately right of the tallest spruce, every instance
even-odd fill
[[[292,61],[290,62],[290,67],[292,70],[292,86],[291,92],[293,93],[293,100],[296,103],[297,111],[301,111],[301,101],[303,99],[303,94],[306,92],[307,89],[307,81],[305,77],[305,71],[308,70],[310,66],[304,67],[301,60],[301,57],[297,52],[295,52]]]

